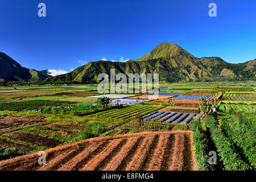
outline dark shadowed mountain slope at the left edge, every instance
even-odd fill
[[[27,69],[0,52],[0,80],[5,81],[42,81],[50,77],[45,71]]]

